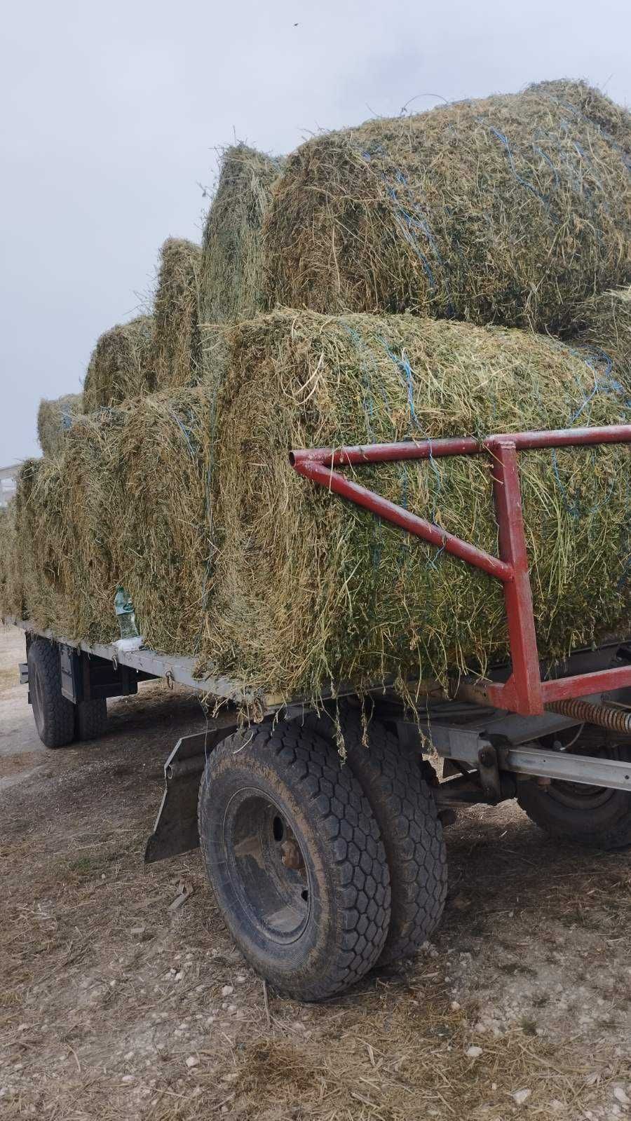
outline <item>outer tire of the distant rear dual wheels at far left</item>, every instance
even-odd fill
[[[64,748],[74,740],[74,705],[62,694],[59,651],[45,638],[27,654],[29,692],[37,734],[46,748]]]

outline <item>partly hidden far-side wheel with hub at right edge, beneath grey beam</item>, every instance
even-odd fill
[[[569,729],[567,734],[572,732]],[[597,728],[586,729],[568,753],[631,762],[631,745],[610,741],[606,732]],[[625,790],[560,779],[554,779],[548,786],[540,786],[536,780],[518,782],[517,789],[521,808],[551,836],[597,849],[621,849],[631,844],[631,794]]]

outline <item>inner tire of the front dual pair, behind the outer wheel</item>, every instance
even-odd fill
[[[381,830],[390,869],[391,919],[380,964],[416,954],[438,926],[447,897],[447,851],[420,752],[371,719],[368,748],[356,708],[340,705],[349,766],[360,780]],[[321,734],[334,734],[330,716]],[[427,765],[430,773],[434,773]]]

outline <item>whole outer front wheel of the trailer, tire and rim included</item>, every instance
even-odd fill
[[[198,821],[225,923],[279,992],[323,1000],[375,964],[390,921],[386,852],[324,740],[296,722],[229,736],[207,760]]]

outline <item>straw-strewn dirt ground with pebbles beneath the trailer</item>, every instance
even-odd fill
[[[0,1118],[414,1121],[631,1115],[631,862],[512,804],[447,831],[433,943],[326,1004],[266,992],[198,853],[145,867],[197,701],[154,683],[47,751],[0,629]],[[184,881],[193,895],[169,906]]]

